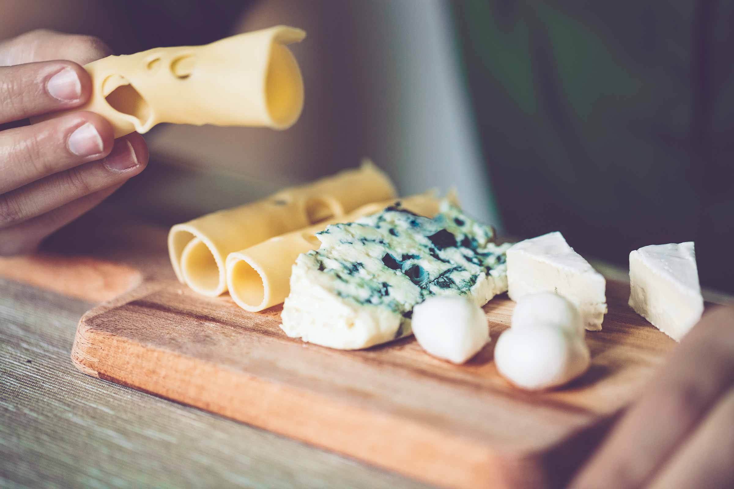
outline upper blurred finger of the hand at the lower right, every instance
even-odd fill
[[[734,308],[705,315],[630,408],[572,488],[637,488],[685,441],[734,381]]]

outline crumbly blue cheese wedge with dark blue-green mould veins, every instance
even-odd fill
[[[301,254],[283,305],[283,331],[341,350],[412,333],[413,306],[433,296],[465,296],[479,306],[507,290],[505,251],[491,227],[443,203],[426,218],[401,207],[317,234]]]

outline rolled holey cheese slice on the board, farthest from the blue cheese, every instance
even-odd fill
[[[180,282],[215,297],[227,290],[225,259],[233,251],[395,196],[390,178],[366,161],[358,169],[176,224],[168,234],[171,265]]]

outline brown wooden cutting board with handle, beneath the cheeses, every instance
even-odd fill
[[[484,307],[493,341],[462,366],[428,356],[412,337],[331,350],[286,337],[280,306],[250,313],[228,295],[192,293],[172,279],[164,234],[155,239],[145,249],[156,256],[145,260],[128,247],[102,265],[0,260],[0,274],[50,270],[58,282],[61,265],[46,265],[62,260],[89,269],[84,280],[92,273],[117,292],[132,287],[81,317],[71,356],[88,375],[445,487],[529,487],[562,470],[553,454],[567,454],[565,440],[634,400],[675,346],[627,306],[628,285],[608,282],[603,331],[586,334],[591,369],[564,389],[527,393],[493,362],[514,306],[506,295]],[[68,280],[56,288],[76,290]],[[575,457],[584,450],[583,441],[573,446]]]

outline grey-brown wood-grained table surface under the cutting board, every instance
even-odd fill
[[[114,260],[111,243],[120,245],[120,236],[88,245],[106,246]],[[73,240],[73,249],[83,253],[80,246]],[[610,278],[625,276],[595,266]],[[100,295],[119,286],[102,285]],[[69,355],[79,317],[95,304],[47,288],[54,284],[0,278],[0,487],[426,487],[82,374]]]

